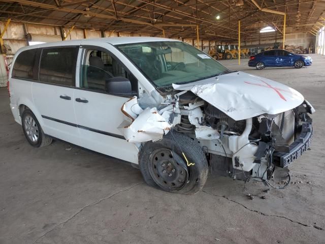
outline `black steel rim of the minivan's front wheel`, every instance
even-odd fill
[[[167,148],[154,150],[149,157],[149,173],[155,183],[166,190],[181,190],[187,183],[188,173],[180,157]]]

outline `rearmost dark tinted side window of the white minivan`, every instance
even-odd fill
[[[37,49],[21,52],[16,58],[12,69],[12,77],[34,79],[34,63]]]

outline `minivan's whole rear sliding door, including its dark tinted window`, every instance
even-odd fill
[[[32,98],[44,121],[46,134],[77,144],[74,87],[78,47],[43,48],[39,80],[32,83]]]

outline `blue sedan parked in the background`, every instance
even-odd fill
[[[282,49],[272,49],[250,56],[249,67],[263,70],[265,67],[295,67],[300,69],[310,66],[312,59],[309,56],[294,54]]]

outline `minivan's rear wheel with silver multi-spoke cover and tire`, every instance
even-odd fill
[[[48,146],[52,138],[45,135],[34,113],[25,109],[21,115],[22,130],[30,145],[34,147]]]

